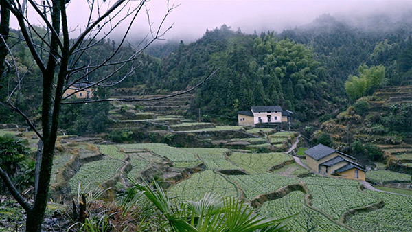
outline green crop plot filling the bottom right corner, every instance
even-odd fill
[[[412,228],[412,197],[367,190],[385,202],[382,209],[359,213],[347,224],[357,231],[402,232]]]

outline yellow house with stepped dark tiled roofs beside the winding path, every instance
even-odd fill
[[[363,166],[356,163],[356,159],[352,156],[323,144],[318,144],[304,153],[306,154],[306,165],[320,174],[365,181]]]

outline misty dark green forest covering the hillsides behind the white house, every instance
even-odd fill
[[[21,36],[17,30],[11,32],[16,38]],[[114,84],[126,75],[128,78],[112,89],[138,87],[145,94],[168,93],[188,89],[213,69],[221,67],[216,76],[196,91],[196,97],[190,103],[192,111],[200,108],[205,114],[221,115],[219,119],[227,119],[236,117],[237,111],[247,110],[250,106],[280,105],[294,111],[300,121],[310,121],[347,104],[349,97],[344,83],[348,78],[354,80],[353,76],[361,75],[358,69],[363,65],[385,69],[386,81],[383,84],[410,82],[411,35],[412,21],[406,16],[400,16],[396,21],[385,15],[367,16],[363,23],[354,24],[323,14],[308,25],[279,34],[270,31],[244,34],[240,29],[234,31],[222,25],[206,30],[202,38],[187,45],[183,41],[153,45],[137,61],[128,64],[137,67],[133,73],[124,73],[130,67],[120,69],[111,82],[102,84]],[[27,59],[27,47],[16,38],[11,38],[15,43],[10,49],[16,54],[16,66],[25,73],[21,94],[31,100],[15,104],[19,104],[36,122],[41,108],[38,91],[41,83],[36,79],[38,68]],[[115,44],[114,40],[102,40],[89,56],[93,56],[93,60],[103,60],[113,51]],[[114,60],[128,56],[132,50],[133,43],[129,43],[122,47]],[[78,63],[93,65],[89,64],[87,56]],[[93,78],[104,76],[117,67],[119,65],[114,63],[86,79],[93,81]],[[82,72],[74,75],[81,76]],[[4,81],[2,84],[8,85]],[[6,91],[0,92],[2,100],[7,94]],[[108,92],[104,94],[110,95]],[[67,120],[84,118],[89,111],[84,108],[89,106],[70,107],[63,108],[63,112],[77,112],[78,115],[63,117],[63,127],[73,125]],[[74,111],[73,107],[83,109]],[[108,111],[108,106],[101,107]],[[16,121],[19,117],[5,111],[5,108],[0,109],[1,121],[21,122]],[[189,116],[192,111],[189,111]],[[93,125],[84,122],[81,128],[102,128]]]

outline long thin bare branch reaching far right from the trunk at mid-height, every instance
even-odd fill
[[[196,89],[198,86],[201,86],[201,84],[203,84],[205,81],[209,80],[209,78],[211,78],[212,76],[214,76],[214,74],[216,74],[219,69],[222,66],[218,67],[218,69],[212,71],[210,73],[209,76],[207,76],[207,78],[205,78],[204,80],[202,80],[201,82],[199,82],[198,84],[196,84],[195,86],[193,86],[190,89],[187,89],[185,91],[181,91],[179,93],[174,93],[174,94],[170,94],[170,95],[166,95],[163,97],[150,97],[150,98],[137,98],[137,99],[127,99],[127,98],[108,98],[108,99],[98,99],[98,100],[83,100],[83,101],[76,101],[76,102],[62,102],[62,105],[67,105],[67,104],[84,104],[84,103],[92,103],[92,102],[113,102],[113,101],[122,101],[122,102],[142,102],[142,101],[154,101],[154,100],[163,100],[166,98],[170,98],[170,97],[176,97],[179,95],[183,95],[185,93],[189,93],[190,91],[193,91],[194,89]]]

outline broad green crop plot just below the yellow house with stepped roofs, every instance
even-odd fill
[[[302,178],[302,181],[312,196],[312,206],[335,220],[349,209],[378,201],[374,196],[359,191],[358,181],[325,177]]]

